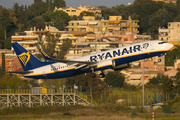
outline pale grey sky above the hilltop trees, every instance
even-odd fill
[[[45,0],[44,0],[45,1]],[[66,6],[69,7],[79,7],[79,5],[85,6],[107,6],[112,7],[116,5],[127,5],[128,3],[133,3],[134,0],[65,0]],[[19,5],[31,5],[33,4],[34,0],[0,0],[0,5],[5,8],[12,8],[13,3],[18,3]]]

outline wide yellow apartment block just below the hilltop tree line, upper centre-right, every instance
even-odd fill
[[[72,20],[66,27],[67,31],[86,31],[95,32],[96,35],[104,35],[105,33],[125,34],[127,32],[139,33],[138,20],[122,20],[121,16],[110,16],[109,20],[95,20],[92,16],[83,17],[83,20]],[[90,19],[91,18],[91,19]]]

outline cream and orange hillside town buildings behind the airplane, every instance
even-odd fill
[[[38,54],[39,50],[36,43],[39,41],[39,36],[42,35],[42,40],[46,44],[47,34],[60,34],[56,41],[55,49],[61,47],[64,39],[72,41],[70,48],[65,56],[65,59],[81,57],[93,52],[100,52],[120,46],[126,46],[133,43],[152,40],[151,35],[139,34],[139,20],[132,20],[129,16],[127,20],[123,20],[122,16],[109,16],[109,20],[96,20],[95,17],[102,16],[101,10],[97,7],[81,6],[78,8],[57,8],[54,11],[64,11],[69,15],[79,15],[82,11],[90,11],[95,16],[83,16],[82,20],[70,20],[65,26],[64,31],[58,30],[51,25],[45,25],[45,29],[37,29],[36,26],[30,30],[23,32],[15,32],[11,36],[11,42],[18,42],[33,54]],[[168,28],[158,29],[158,39],[175,46],[179,46],[179,27],[180,22],[168,22]],[[5,53],[6,70],[22,71],[22,67],[16,57],[13,48],[11,50],[1,49],[0,52]],[[2,57],[1,57],[2,59]],[[153,57],[145,60],[145,83],[158,73],[168,75],[169,78],[175,77],[180,68],[180,60],[174,61],[174,66],[165,66],[165,57]],[[0,60],[1,64],[1,60]],[[140,85],[142,83],[142,61],[131,63],[131,68],[120,71],[125,74],[126,82],[132,85]],[[166,71],[165,71],[166,69]]]

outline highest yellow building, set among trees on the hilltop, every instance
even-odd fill
[[[68,13],[69,16],[74,16],[74,15],[79,16],[81,12],[88,11],[88,12],[94,13],[94,15],[96,17],[102,17],[101,9],[99,9],[98,7],[82,6],[82,5],[80,5],[77,8],[72,8],[72,6],[70,6],[69,8],[67,8],[67,7],[64,7],[64,8],[55,7],[54,12],[57,10],[62,10],[64,12]]]

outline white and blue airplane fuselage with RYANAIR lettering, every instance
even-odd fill
[[[128,46],[122,46],[119,48],[94,53],[90,55],[86,55],[79,58],[72,59],[73,61],[86,61],[86,62],[98,62],[101,63],[107,60],[115,60],[118,65],[132,62],[148,57],[157,56],[161,53],[165,53],[173,47],[170,43],[164,43],[160,40],[153,40],[153,41],[145,41],[141,43],[136,43]],[[42,66],[31,71],[33,73],[24,75],[25,77],[32,77],[37,76],[37,78],[47,77],[47,78],[56,78],[62,77],[63,74],[65,77],[74,75],[73,72],[76,71],[76,66],[68,65],[66,63],[52,63],[46,66]],[[79,69],[78,69],[79,70]],[[69,73],[68,73],[69,72]],[[62,73],[60,75],[60,73]],[[51,75],[51,74],[54,74]],[[79,74],[79,71],[78,71]],[[38,77],[39,76],[39,77]]]

